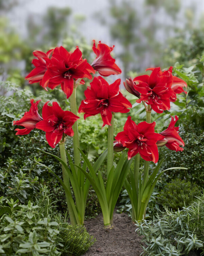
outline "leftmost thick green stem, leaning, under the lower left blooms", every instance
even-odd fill
[[[67,164],[67,156],[66,156],[66,151],[65,151],[65,139],[63,138],[62,141],[59,143],[60,146],[60,157],[61,159]],[[67,188],[71,191],[70,189],[70,182],[69,182],[69,175],[65,169],[65,167],[62,165],[62,175],[63,175],[63,181],[65,186],[67,186]],[[67,196],[67,193],[65,192],[66,195],[66,200],[67,200],[67,208],[68,208],[68,212],[69,212],[69,218],[70,218],[70,223],[72,225],[77,225],[77,220],[74,216],[72,207],[71,207],[71,203],[69,201],[69,198]]]

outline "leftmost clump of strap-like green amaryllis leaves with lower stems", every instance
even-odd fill
[[[63,149],[62,149],[63,147]],[[48,155],[53,156],[55,159],[57,159],[62,164],[62,170],[63,170],[63,181],[62,179],[48,166],[45,166],[43,163],[40,163],[36,158],[35,162],[38,163],[40,166],[43,166],[44,168],[47,168],[60,182],[62,187],[65,190],[67,205],[68,205],[68,211],[70,216],[70,222],[72,225],[83,225],[84,224],[84,218],[85,218],[85,208],[86,208],[86,200],[88,196],[88,191],[90,187],[90,180],[85,179],[87,177],[86,175],[86,168],[89,167],[90,162],[88,158],[84,155],[82,151],[81,154],[84,158],[84,164],[82,167],[77,166],[80,170],[83,170],[83,172],[76,172],[74,164],[72,162],[72,159],[67,151],[65,151],[64,142],[60,144],[60,151],[61,151],[61,158],[58,156],[55,156],[53,154],[47,153]],[[63,151],[63,154],[62,154]],[[44,152],[46,153],[46,152]],[[94,171],[95,175],[98,169],[100,168],[101,164],[103,163],[105,157],[107,156],[107,150],[105,150],[100,157],[96,160],[92,167],[92,171]],[[67,157],[69,160],[70,169],[67,165]],[[93,173],[91,173],[93,175]],[[71,187],[73,189],[73,193],[75,196],[75,202],[72,197],[71,193]],[[92,185],[92,184],[91,184]],[[119,191],[120,192],[120,191]]]

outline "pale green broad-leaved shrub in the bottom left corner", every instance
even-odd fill
[[[52,214],[46,188],[41,190],[37,205],[31,201],[19,204],[9,197],[0,197],[0,252],[6,255],[61,255],[58,241],[60,223]],[[51,215],[49,215],[51,214]]]

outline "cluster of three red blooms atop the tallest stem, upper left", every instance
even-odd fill
[[[78,80],[80,84],[84,84],[84,80],[81,79],[84,77],[92,79],[91,73],[95,74],[95,70],[103,76],[121,73],[111,56],[113,48],[114,46],[109,47],[101,42],[96,48],[94,40],[93,51],[96,59],[91,65],[86,59],[82,59],[82,52],[78,46],[73,53],[68,52],[63,46],[51,49],[47,53],[34,51],[33,55],[37,59],[33,59],[32,63],[35,68],[26,79],[30,84],[39,82],[45,89],[46,87],[54,89],[57,85],[61,85],[69,98],[73,92],[74,82]]]

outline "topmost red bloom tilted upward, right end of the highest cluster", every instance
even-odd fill
[[[103,76],[121,74],[120,68],[115,63],[116,60],[111,56],[115,45],[109,47],[107,44],[102,44],[101,41],[99,41],[96,48],[95,40],[93,40],[93,42],[94,45],[92,49],[96,54],[96,59],[91,66]]]

